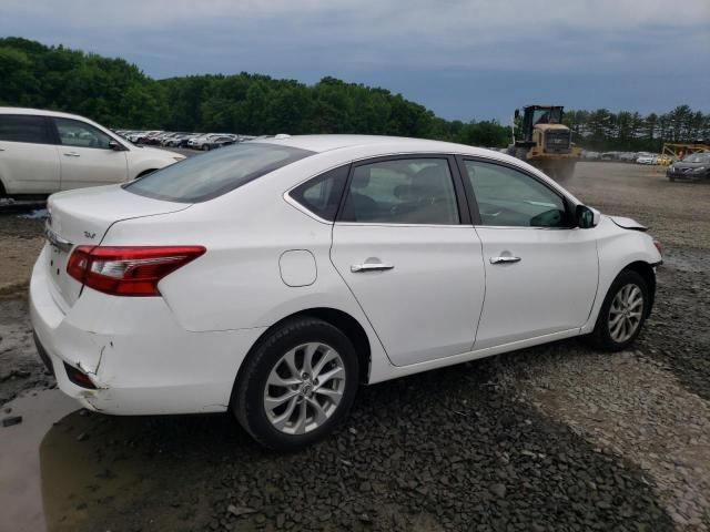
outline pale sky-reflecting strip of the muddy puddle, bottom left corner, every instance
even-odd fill
[[[32,395],[37,393],[37,395]],[[0,428],[0,531],[45,530],[40,442],[52,423],[79,408],[59,390],[30,392],[6,405],[22,422]]]

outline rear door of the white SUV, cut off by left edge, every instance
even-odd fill
[[[8,194],[59,191],[60,166],[48,119],[0,114],[0,182]]]

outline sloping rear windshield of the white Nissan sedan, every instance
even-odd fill
[[[296,147],[247,142],[186,158],[123,187],[155,200],[199,203],[312,154]]]

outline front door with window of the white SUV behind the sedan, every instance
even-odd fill
[[[112,150],[114,141],[91,124],[52,119],[59,140],[61,190],[123,183],[128,180],[125,151]]]

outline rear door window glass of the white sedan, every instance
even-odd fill
[[[402,158],[356,166],[341,221],[458,224],[458,207],[448,161]]]

